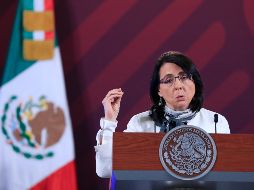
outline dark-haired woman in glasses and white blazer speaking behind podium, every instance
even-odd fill
[[[105,117],[97,133],[96,173],[110,177],[112,172],[112,136],[123,96],[121,88],[108,92],[103,99]],[[155,65],[150,84],[153,106],[131,118],[125,132],[167,132],[180,125],[194,125],[208,133],[230,133],[225,117],[202,108],[203,84],[195,65],[180,52],[162,54]]]

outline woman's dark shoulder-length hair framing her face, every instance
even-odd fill
[[[181,67],[187,74],[192,75],[192,79],[195,84],[195,94],[192,98],[189,109],[193,112],[199,111],[203,105],[203,83],[196,66],[191,59],[180,52],[169,51],[163,53],[157,60],[154,67],[151,83],[150,83],[150,98],[153,102],[153,106],[150,110],[150,117],[155,121],[161,123],[164,118],[165,100],[162,98],[162,104],[159,104],[160,96],[158,95],[160,85],[160,68],[165,63],[174,63]]]

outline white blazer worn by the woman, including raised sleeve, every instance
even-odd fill
[[[202,108],[194,118],[187,124],[200,127],[207,133],[215,133],[214,123],[215,112]],[[109,178],[112,174],[112,137],[117,127],[117,122],[112,122],[101,118],[101,129],[96,135],[97,145],[94,147],[96,152],[96,173],[99,177]],[[226,118],[218,114],[217,133],[229,134],[230,129]],[[149,116],[149,111],[134,115],[124,132],[147,132],[158,133],[160,127],[154,128],[154,121]],[[101,139],[101,140],[100,140]],[[102,142],[100,144],[100,142]]]

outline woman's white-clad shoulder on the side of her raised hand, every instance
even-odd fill
[[[134,115],[128,125],[126,132],[149,132],[154,127],[154,122],[149,116],[150,111],[145,111]]]

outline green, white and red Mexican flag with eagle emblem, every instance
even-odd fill
[[[77,189],[53,0],[19,0],[0,119],[0,190]]]

